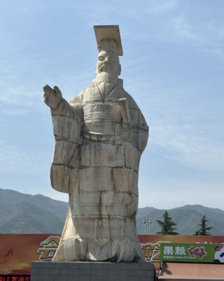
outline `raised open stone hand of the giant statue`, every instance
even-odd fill
[[[62,93],[57,86],[52,89],[50,86],[45,85],[44,91],[44,102],[47,106],[52,109],[56,109],[59,103],[62,101]]]

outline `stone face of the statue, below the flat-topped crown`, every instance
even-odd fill
[[[97,59],[96,73],[106,72],[113,75],[120,75],[119,58],[112,50],[102,50]]]

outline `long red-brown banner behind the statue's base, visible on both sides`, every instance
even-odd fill
[[[161,244],[191,243],[204,245],[216,243],[221,252],[224,236],[181,236],[181,235],[139,235],[141,249],[146,262],[154,264],[157,273],[160,271]],[[31,261],[51,261],[59,244],[60,234],[0,234],[0,281],[29,281]],[[223,248],[222,248],[223,250]],[[209,252],[210,250],[206,250]],[[214,253],[214,248],[212,248]],[[216,254],[216,255],[218,255]],[[218,258],[216,258],[218,259]]]

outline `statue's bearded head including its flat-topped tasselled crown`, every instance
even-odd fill
[[[99,55],[96,75],[98,82],[116,83],[121,72],[118,55],[123,55],[118,26],[94,26]]]

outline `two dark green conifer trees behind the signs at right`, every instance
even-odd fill
[[[161,227],[161,230],[157,232],[157,234],[161,234],[161,235],[179,235],[179,233],[176,231],[178,229],[175,228],[175,226],[177,225],[176,222],[172,221],[172,217],[169,216],[167,210],[165,211],[165,213],[162,215],[163,219],[159,220],[157,219],[156,222],[159,224],[159,226]],[[193,235],[211,235],[211,233],[209,233],[209,230],[212,229],[212,226],[207,226],[207,218],[204,215],[201,219],[201,223],[199,224],[200,229],[198,229],[197,231],[195,231],[195,233],[193,233]]]

